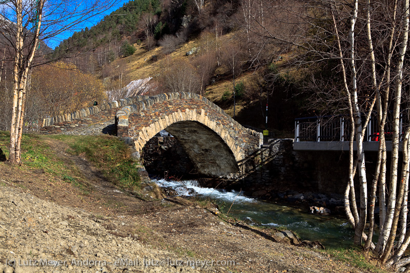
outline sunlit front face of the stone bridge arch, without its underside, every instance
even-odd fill
[[[132,138],[140,152],[159,131],[185,121],[212,130],[228,146],[237,163],[262,143],[260,133],[242,127],[216,104],[193,93],[160,94],[122,108],[116,114],[117,135]]]

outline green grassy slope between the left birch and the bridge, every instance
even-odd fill
[[[139,187],[139,162],[130,157],[128,145],[111,136],[69,136],[69,135],[31,135],[22,137],[23,168],[43,169],[46,173],[70,182],[88,194],[86,183],[78,178],[78,170],[70,162],[63,162],[50,149],[46,140],[64,141],[70,147],[67,153],[85,156],[113,183],[137,190]],[[10,133],[0,131],[0,160],[9,156]],[[3,161],[4,161],[3,160]],[[67,161],[67,160],[66,160]]]

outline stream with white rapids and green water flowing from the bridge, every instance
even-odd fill
[[[228,212],[233,202],[229,215],[252,225],[285,227],[298,234],[302,240],[317,240],[326,248],[347,247],[352,243],[354,233],[346,219],[311,214],[307,205],[301,208],[266,202],[243,196],[235,191],[200,187],[195,180],[154,181],[161,187],[173,188],[181,196],[210,198],[224,213]]]

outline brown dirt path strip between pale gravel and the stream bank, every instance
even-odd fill
[[[85,158],[66,153],[64,142],[49,140],[48,144],[66,164],[76,167],[87,188],[55,179],[42,170],[24,172],[5,163],[0,163],[2,183],[22,194],[84,211],[110,236],[130,238],[157,256],[159,250],[165,250],[163,259],[176,256],[219,261],[201,269],[212,272],[366,272],[326,254],[277,242],[269,230],[229,223],[218,218],[211,205],[202,207],[175,197],[155,200],[148,195],[132,196],[107,181]],[[3,240],[0,236],[0,244]],[[228,261],[235,265],[227,265]]]

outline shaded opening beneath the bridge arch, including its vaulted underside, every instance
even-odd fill
[[[145,167],[149,173],[162,174],[169,171],[178,175],[178,172],[189,170],[186,175],[227,177],[239,172],[232,150],[221,136],[206,125],[192,120],[178,121],[165,130],[174,139],[153,137],[141,151],[141,158],[147,162]],[[180,165],[177,165],[178,162]],[[174,170],[159,171],[173,166]]]

